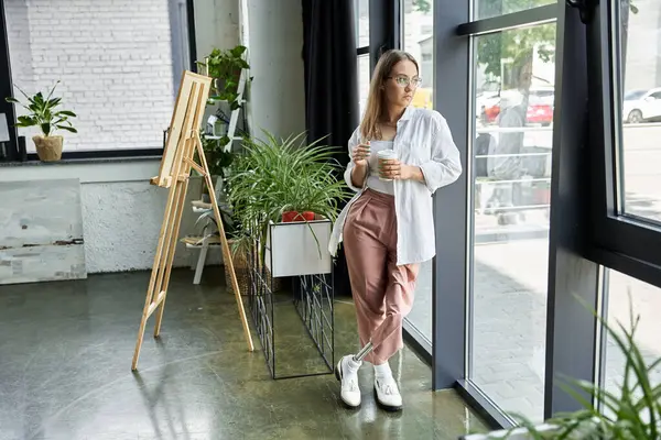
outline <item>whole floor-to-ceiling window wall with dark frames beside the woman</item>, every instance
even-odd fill
[[[563,376],[616,391],[624,371],[578,298],[626,321],[630,293],[661,354],[661,3],[400,1],[465,170],[434,195],[433,294],[423,267],[407,329],[432,336],[434,388],[494,425],[578,409]]]

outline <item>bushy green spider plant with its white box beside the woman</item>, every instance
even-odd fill
[[[327,240],[339,202],[350,196],[345,184],[335,177],[340,174],[340,165],[333,158],[333,148],[318,142],[306,145],[304,134],[278,140],[264,131],[264,140],[247,139],[245,153],[237,156],[229,177],[229,202],[243,229],[254,231],[261,263],[270,264],[268,251],[273,261],[288,260],[285,272],[295,271],[296,258],[319,265],[329,262],[324,246],[327,243],[322,241]],[[294,219],[301,221],[300,228],[292,226],[286,233],[273,233],[280,224]],[[312,258],[304,257],[311,252],[308,237],[316,246]],[[290,249],[274,244],[281,240]],[[268,245],[271,241],[272,245]]]

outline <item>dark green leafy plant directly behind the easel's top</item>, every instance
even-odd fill
[[[209,103],[227,101],[231,110],[241,107],[238,92],[239,75],[241,69],[250,68],[248,62],[243,59],[246,50],[246,46],[241,45],[226,51],[216,47],[205,62],[197,62],[208,76],[216,79],[213,85],[214,96],[209,98]]]

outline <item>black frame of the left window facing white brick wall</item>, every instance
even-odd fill
[[[182,53],[188,55],[189,59],[183,62],[181,59],[173,59],[173,69],[183,70],[192,69],[196,72],[196,38],[195,38],[195,10],[194,0],[185,1],[185,28],[186,29],[171,29],[173,36],[172,48],[173,58],[181,58],[177,55]],[[169,8],[171,14],[178,10],[178,3],[181,0],[171,0]],[[177,23],[173,16],[171,16],[171,24]],[[180,43],[184,41],[187,43],[187,47],[180,47]],[[19,133],[14,127],[17,123],[17,112],[13,103],[7,102],[4,97],[13,97],[15,89],[13,86],[13,79],[11,75],[11,57],[9,53],[9,36],[7,26],[7,14],[4,9],[4,0],[0,0],[0,113],[7,116],[7,123],[10,134],[10,141],[4,143],[6,157],[0,156],[0,162],[21,162],[21,155],[19,151]],[[175,75],[175,88],[177,82],[177,75]],[[173,103],[176,97],[176,91],[173,95]],[[164,128],[165,130],[166,128]],[[115,148],[115,150],[87,150],[87,151],[64,151],[62,153],[63,163],[67,160],[99,160],[99,158],[134,158],[134,157],[161,157],[163,155],[163,146],[158,147],[144,147],[144,148]],[[28,162],[39,161],[36,153],[26,154]]]

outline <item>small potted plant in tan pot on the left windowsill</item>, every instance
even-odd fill
[[[59,81],[55,82],[51,92],[44,98],[40,91],[30,97],[19,87],[19,91],[25,97],[28,103],[21,103],[13,97],[8,97],[8,102],[21,105],[28,114],[18,118],[17,128],[39,127],[42,134],[36,134],[32,138],[39,158],[44,162],[59,161],[62,158],[62,148],[64,138],[53,134],[55,130],[66,130],[72,133],[77,133],[77,130],[72,125],[69,118],[76,118],[76,113],[69,110],[57,110],[61,106],[62,98],[53,98],[55,87]]]

